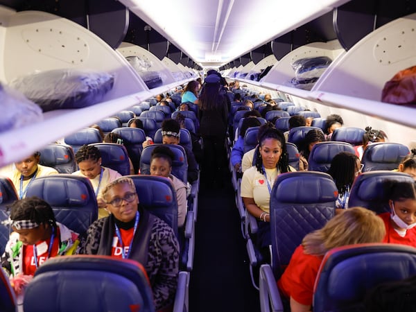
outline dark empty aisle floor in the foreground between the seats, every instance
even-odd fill
[[[199,193],[196,250],[189,285],[189,310],[260,311],[241,236],[231,177],[223,189]]]

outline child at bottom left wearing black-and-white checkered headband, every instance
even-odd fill
[[[51,257],[73,254],[78,234],[56,222],[51,206],[35,196],[13,202],[8,220],[13,230],[1,257],[11,281],[29,281],[38,266]],[[12,282],[13,284],[13,282]],[[17,294],[21,292],[15,283]]]

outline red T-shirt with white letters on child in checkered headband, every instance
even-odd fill
[[[51,258],[56,257],[59,250],[59,231],[58,235],[55,235],[53,238]],[[46,241],[41,241],[36,244],[37,250],[37,265],[42,266],[42,263],[48,259],[48,249],[51,239]],[[36,271],[35,258],[33,257],[33,245],[23,245],[23,274],[24,275],[34,275]]]

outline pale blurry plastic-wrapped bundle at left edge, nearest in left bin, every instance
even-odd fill
[[[0,111],[0,132],[21,128],[28,123],[36,123],[43,119],[39,105],[1,83]]]

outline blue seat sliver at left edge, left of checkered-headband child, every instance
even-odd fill
[[[10,211],[8,207],[18,199],[15,185],[8,177],[0,175],[0,254],[3,254],[8,242],[10,227],[3,225],[1,221],[8,220]]]

